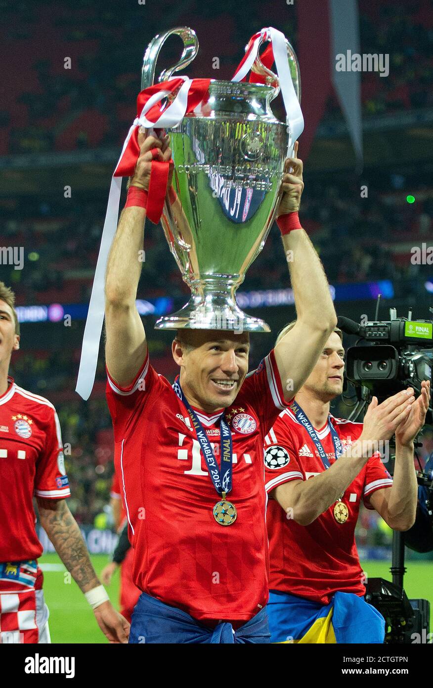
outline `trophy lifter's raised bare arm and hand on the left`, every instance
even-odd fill
[[[168,136],[163,141],[139,134],[140,157],[130,186],[148,190],[153,156],[159,149],[159,160],[170,160]],[[124,208],[111,246],[105,275],[105,359],[112,378],[126,387],[137,375],[146,358],[146,334],[135,306],[138,281],[143,264],[144,219],[140,206]]]

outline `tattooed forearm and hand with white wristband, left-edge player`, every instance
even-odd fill
[[[97,588],[101,583],[91,565],[85,541],[66,500],[36,497],[36,501],[41,526],[80,590],[89,592]],[[128,642],[129,623],[114,610],[110,601],[98,605],[93,612],[100,629],[111,643]]]

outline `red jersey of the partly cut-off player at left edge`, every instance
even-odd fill
[[[70,495],[56,409],[15,385],[0,396],[0,561],[37,559],[33,496]]]

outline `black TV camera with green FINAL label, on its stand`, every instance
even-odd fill
[[[379,299],[375,321],[363,324],[340,316],[337,326],[342,332],[357,335],[355,346],[346,353],[346,378],[355,387],[357,404],[349,420],[357,420],[373,396],[379,403],[406,387],[421,394],[421,382],[430,380],[430,405],[426,425],[433,425],[432,369],[433,321],[397,318],[390,308],[390,320],[378,321]],[[433,314],[433,309],[430,308]],[[422,433],[422,431],[421,431]],[[420,433],[420,435],[421,435]],[[421,447],[419,437],[415,448]],[[394,473],[395,438],[390,440],[390,465]],[[421,466],[420,466],[421,468]],[[424,470],[417,471],[418,506],[414,526],[406,533],[392,534],[392,582],[383,578],[368,579],[366,601],[374,605],[385,619],[385,643],[431,643],[430,603],[425,599],[408,599],[403,589],[405,544],[416,552],[433,550],[433,454]]]

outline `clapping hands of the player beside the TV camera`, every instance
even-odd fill
[[[390,440],[397,427],[406,422],[410,416],[410,407],[414,403],[412,387],[397,392],[379,404],[373,396],[364,416],[364,427],[361,438],[369,442]]]

